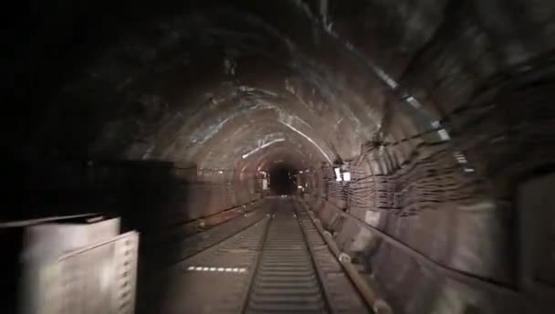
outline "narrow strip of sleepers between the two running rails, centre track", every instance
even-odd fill
[[[290,204],[275,204],[246,313],[327,313],[309,246]]]

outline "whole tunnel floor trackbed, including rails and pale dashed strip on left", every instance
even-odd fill
[[[264,213],[179,263],[161,307],[143,312],[372,312],[304,210],[274,199]]]

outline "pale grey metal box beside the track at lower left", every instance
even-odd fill
[[[26,226],[22,314],[133,313],[139,235],[101,216]]]

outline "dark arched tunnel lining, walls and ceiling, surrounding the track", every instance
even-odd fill
[[[270,224],[266,241],[322,231],[370,312],[550,312],[555,2],[12,10],[0,226],[120,217],[141,239],[136,313],[215,306],[218,289],[179,288],[175,265],[246,221]]]

